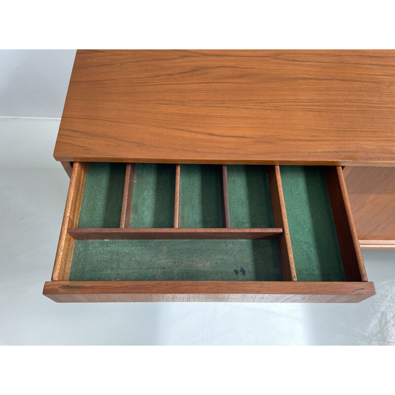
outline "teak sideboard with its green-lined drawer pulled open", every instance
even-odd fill
[[[360,248],[395,246],[394,111],[390,50],[77,51],[54,151],[70,187],[43,294],[375,295]]]

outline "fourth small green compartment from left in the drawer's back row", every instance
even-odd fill
[[[268,167],[227,165],[231,228],[274,228]]]

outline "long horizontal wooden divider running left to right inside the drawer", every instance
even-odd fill
[[[76,240],[263,239],[280,237],[282,229],[70,228],[68,234]]]

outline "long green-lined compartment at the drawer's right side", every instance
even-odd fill
[[[345,281],[323,166],[279,166],[298,281]]]

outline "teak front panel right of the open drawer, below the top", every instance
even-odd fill
[[[384,244],[395,248],[395,169],[346,166],[343,173],[362,248],[382,248]]]

